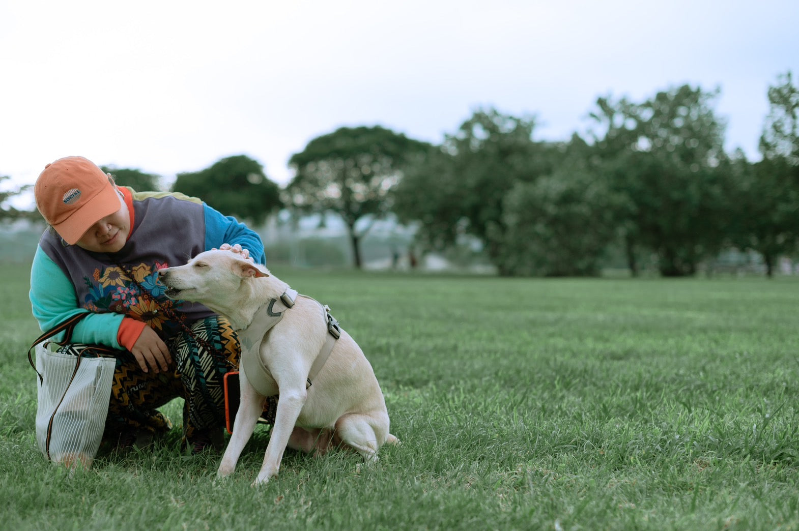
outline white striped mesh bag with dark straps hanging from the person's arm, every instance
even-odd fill
[[[105,429],[116,360],[100,356],[109,351],[104,347],[67,343],[71,327],[79,319],[74,318],[67,339],[58,343],[63,345],[60,351],[51,351],[51,343],[41,341],[62,331],[64,324],[34,343],[34,369],[38,372],[36,442],[52,462],[89,468]]]

